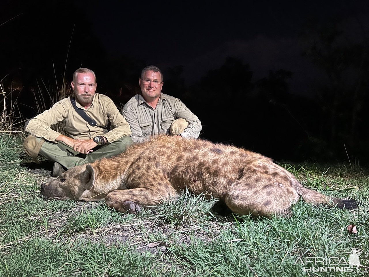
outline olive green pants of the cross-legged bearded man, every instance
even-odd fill
[[[42,138],[37,137],[36,140],[40,142]],[[124,152],[127,147],[132,144],[132,139],[128,136],[124,136],[112,143],[107,143],[104,146],[93,148],[93,152],[90,152],[89,154],[80,154],[61,141],[58,143],[45,141],[41,146],[39,155],[49,161],[56,161],[63,165],[63,167],[70,169],[76,165],[87,164],[100,158],[118,155],[119,153]]]

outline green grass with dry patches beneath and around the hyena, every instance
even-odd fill
[[[120,214],[103,202],[45,201],[21,139],[0,134],[0,276],[368,276],[369,177],[359,167],[282,164],[306,187],[365,202],[356,211],[300,201],[291,218],[221,216],[216,200]],[[355,224],[357,234],[347,226]],[[359,272],[304,273],[298,257],[361,251]],[[309,263],[307,267],[314,266]],[[321,266],[321,265],[318,265]]]

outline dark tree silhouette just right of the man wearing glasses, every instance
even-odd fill
[[[209,71],[192,88],[203,137],[232,141],[241,137],[245,120],[246,95],[252,91],[252,71],[241,59],[227,57],[220,68]]]

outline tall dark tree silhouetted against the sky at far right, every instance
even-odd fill
[[[367,130],[368,124],[363,106],[368,101],[369,45],[365,37],[352,41],[349,35],[335,18],[325,24],[310,23],[302,36],[303,55],[327,76],[317,91],[322,114],[318,136],[327,138],[332,155],[333,149],[344,151],[343,143],[354,148],[363,135],[368,136],[368,131],[359,129]]]

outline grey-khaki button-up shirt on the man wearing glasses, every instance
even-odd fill
[[[188,122],[181,133],[184,138],[197,138],[201,131],[201,122],[178,98],[161,93],[154,109],[141,95],[133,96],[123,107],[123,115],[132,130],[132,140],[142,142],[150,136],[169,134],[173,120],[183,118]]]

